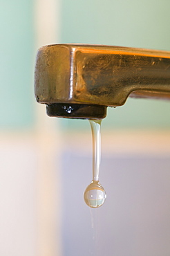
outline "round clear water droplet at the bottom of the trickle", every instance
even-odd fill
[[[84,191],[84,201],[91,208],[98,208],[104,204],[106,192],[99,181],[92,181]]]

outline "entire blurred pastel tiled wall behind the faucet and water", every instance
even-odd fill
[[[170,1],[0,0],[0,255],[169,256],[170,102],[128,99],[102,121],[102,208],[88,120],[48,118],[37,49],[84,43],[170,51]]]

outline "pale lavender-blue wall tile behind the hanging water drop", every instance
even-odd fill
[[[101,208],[90,209],[82,195],[90,183],[91,156],[68,147],[62,168],[63,255],[169,256],[169,168],[167,156],[102,154],[100,181],[107,198]]]

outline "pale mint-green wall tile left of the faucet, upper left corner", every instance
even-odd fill
[[[33,1],[0,1],[0,127],[34,123],[35,37]]]

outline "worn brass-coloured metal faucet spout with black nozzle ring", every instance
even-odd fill
[[[48,116],[102,119],[130,97],[170,99],[170,52],[56,44],[37,53],[35,96]]]

